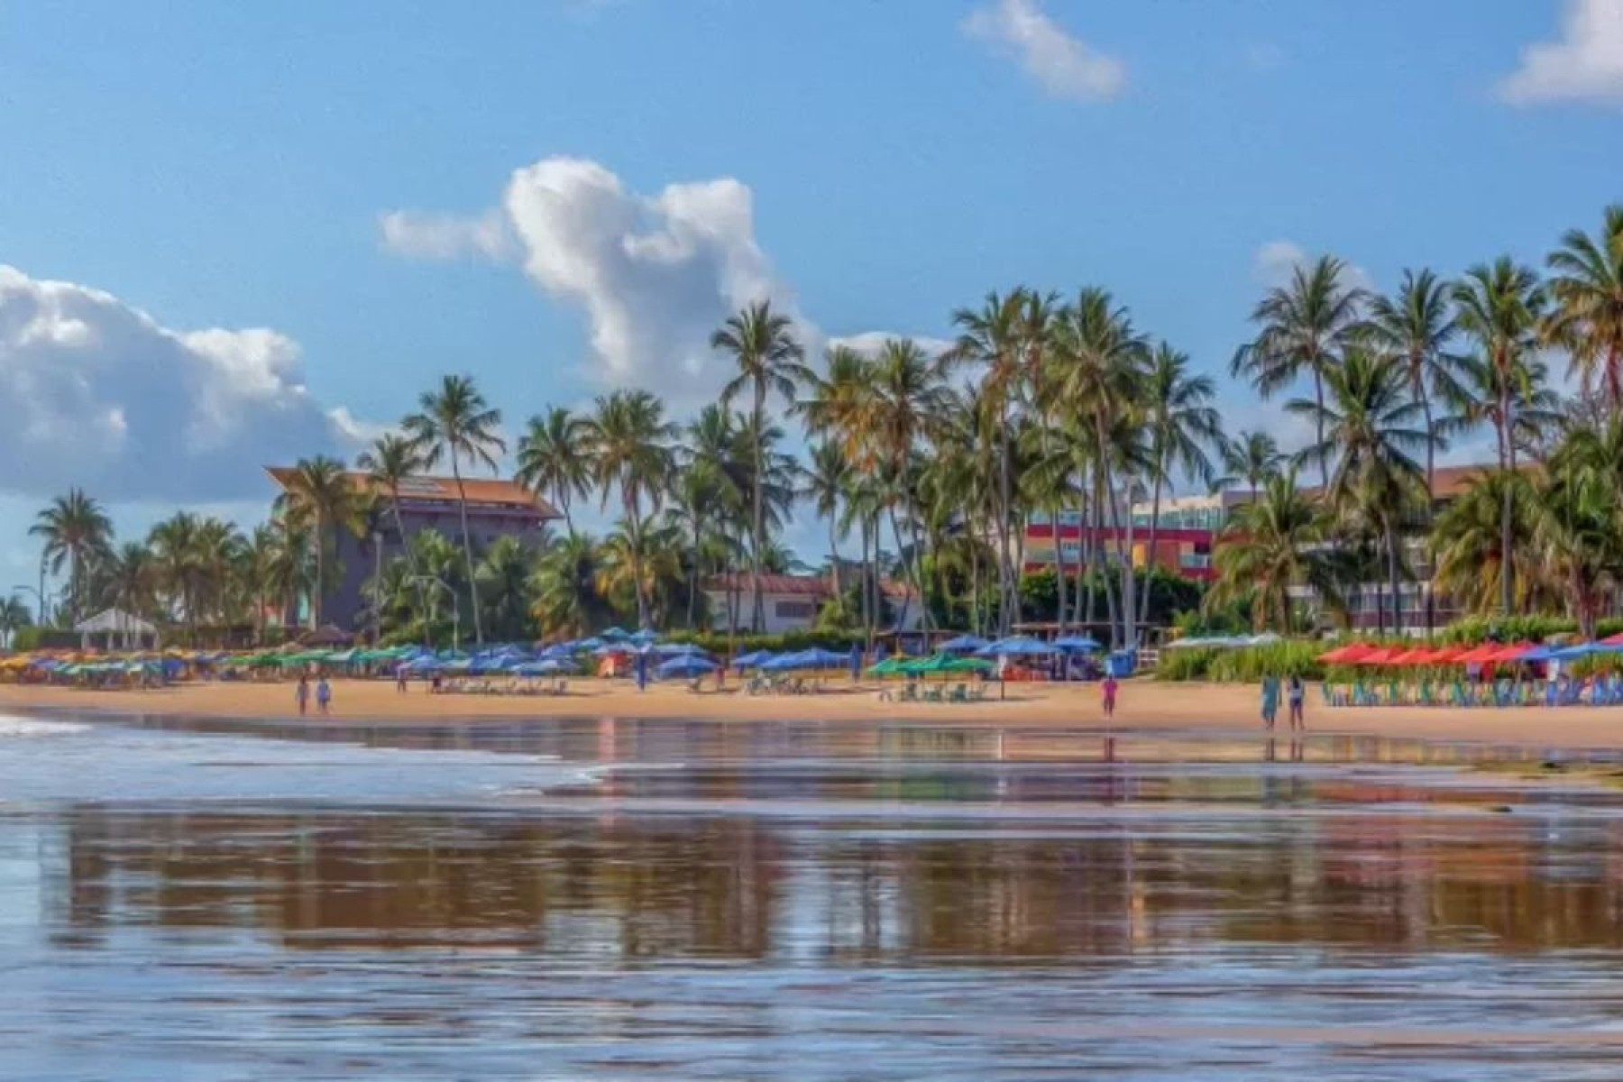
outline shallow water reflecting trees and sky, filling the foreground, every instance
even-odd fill
[[[1617,1079],[1526,751],[0,719],[5,1079]]]

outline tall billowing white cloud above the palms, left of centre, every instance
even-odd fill
[[[383,216],[385,245],[401,216]],[[513,172],[502,206],[472,219],[411,216],[443,245],[411,255],[505,255],[469,237],[511,237],[516,260],[547,295],[578,307],[588,323],[589,371],[609,386],[643,386],[672,396],[712,393],[725,360],[711,333],[747,303],[771,298],[797,320],[802,341],[816,329],[800,320],[786,286],[755,238],[755,196],[732,178],[672,183],[656,195],[630,190],[612,170],[578,157],[547,157]],[[412,230],[404,230],[407,235]],[[435,250],[438,248],[438,250]]]

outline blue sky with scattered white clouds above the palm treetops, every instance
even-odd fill
[[[1104,284],[1216,371],[1294,253],[1537,261],[1623,196],[1623,0],[11,5],[0,162],[3,587],[67,483],[247,519],[441,371],[687,412],[761,290],[821,342]]]

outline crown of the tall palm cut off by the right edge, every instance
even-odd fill
[[[1600,383],[1607,409],[1623,410],[1623,203],[1607,208],[1599,238],[1568,230],[1548,263],[1545,339],[1568,350],[1586,391]]]

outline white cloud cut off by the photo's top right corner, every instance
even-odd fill
[[[1587,101],[1623,105],[1623,0],[1568,0],[1561,39],[1522,49],[1500,83],[1518,105]]]

